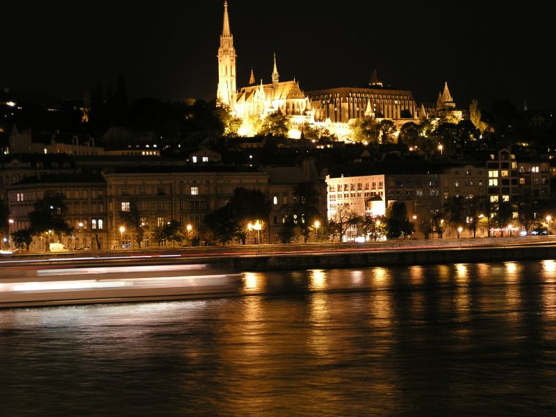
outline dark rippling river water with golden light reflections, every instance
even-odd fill
[[[0,415],[556,415],[555,261],[229,280],[0,311]]]

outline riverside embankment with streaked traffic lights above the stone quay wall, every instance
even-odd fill
[[[540,259],[556,259],[556,236],[40,252],[3,255],[0,268],[2,265],[22,265],[26,261],[43,265],[203,262],[213,268],[243,272]]]

